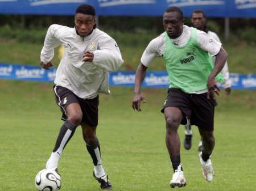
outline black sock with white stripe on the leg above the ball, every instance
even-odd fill
[[[69,140],[72,138],[73,134],[75,133],[76,128],[77,128],[77,126],[73,125],[71,122],[69,122],[69,121],[64,122],[64,124],[60,128],[60,133],[57,137],[55,147],[53,148],[53,152],[56,152],[58,150],[62,141],[65,141],[65,145],[61,150],[63,150],[65,148],[65,146],[67,145]],[[65,134],[67,133],[68,129],[71,130],[71,134],[69,135],[68,139],[63,140],[63,138],[64,138]],[[59,153],[59,155],[61,155],[61,153]]]

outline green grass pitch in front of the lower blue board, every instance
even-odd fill
[[[0,88],[0,190],[35,190],[34,177],[44,168],[63,123],[52,84],[1,80]],[[97,135],[114,190],[171,190],[172,169],[164,142],[164,118],[159,112],[166,90],[143,90],[146,103],[138,113],[131,108],[132,88],[111,89],[112,95],[100,96]],[[188,185],[174,190],[256,190],[256,91],[233,91],[229,97],[218,97],[218,103],[213,182],[206,182],[201,175],[199,135],[193,127],[191,150],[181,147]],[[183,131],[180,126],[181,141]],[[77,128],[60,160],[61,190],[100,190],[92,170],[81,128]]]

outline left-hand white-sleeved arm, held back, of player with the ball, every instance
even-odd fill
[[[49,69],[52,67],[51,60],[54,56],[54,49],[61,45],[61,34],[63,33],[64,27],[58,24],[52,24],[46,33],[46,38],[44,39],[44,46],[41,50],[40,55],[40,65],[44,69]]]

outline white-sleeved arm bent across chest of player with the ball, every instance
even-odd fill
[[[86,51],[82,57],[82,61],[92,62],[107,71],[116,71],[123,63],[118,45],[110,37],[103,37],[98,42],[98,50]]]

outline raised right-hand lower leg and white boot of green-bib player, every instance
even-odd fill
[[[203,176],[205,180],[212,181],[214,176],[214,170],[210,156],[215,145],[215,138],[213,131],[205,131],[199,129],[203,142],[203,151],[199,153],[200,163],[203,168]]]

